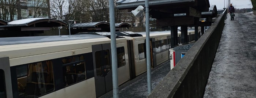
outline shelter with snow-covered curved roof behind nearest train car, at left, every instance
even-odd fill
[[[45,31],[51,30],[52,27],[67,26],[67,23],[49,18],[28,18],[8,22],[0,22],[0,37],[25,37],[38,35],[54,35],[45,34]],[[51,33],[51,32],[50,32]]]

